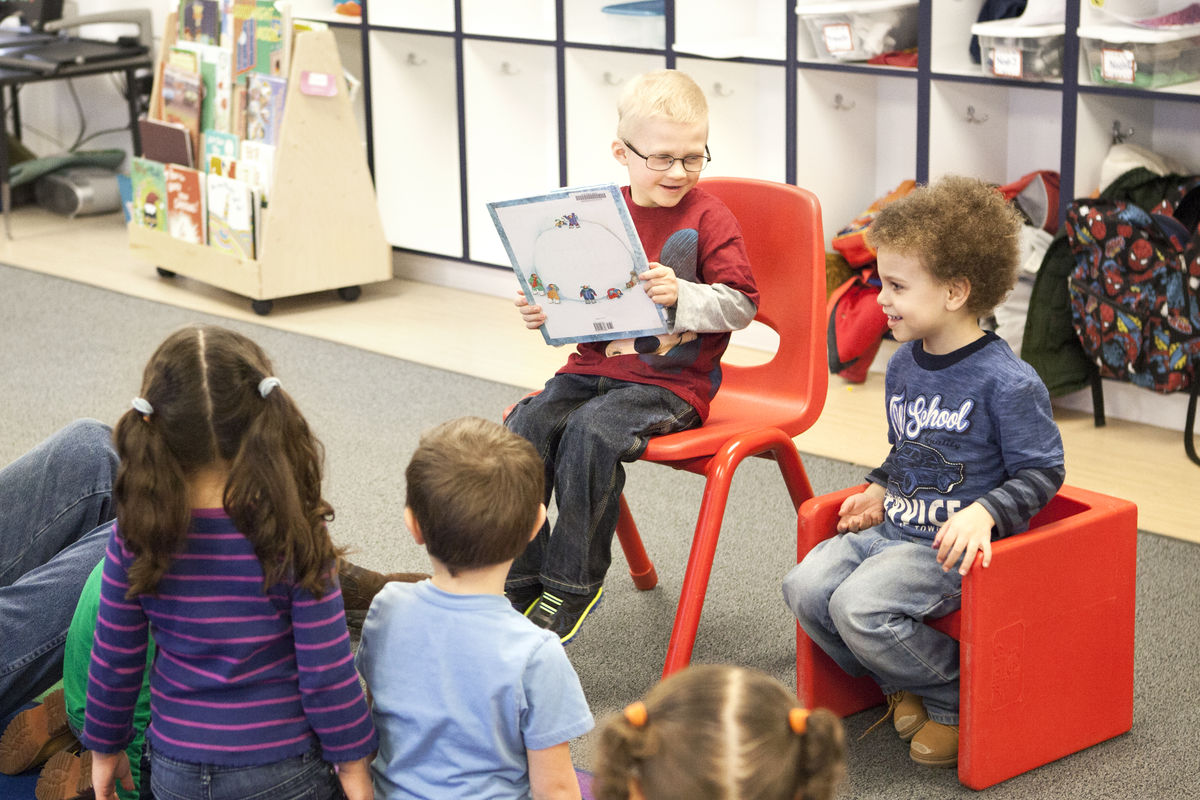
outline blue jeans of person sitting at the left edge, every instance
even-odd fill
[[[72,422],[0,470],[0,716],[62,676],[79,593],[116,515],[112,431]]]

